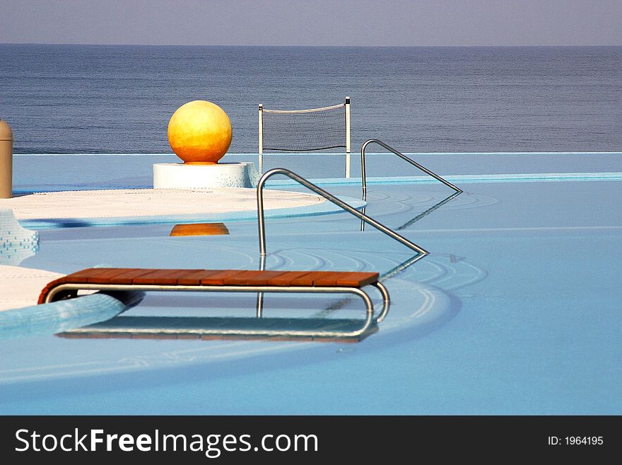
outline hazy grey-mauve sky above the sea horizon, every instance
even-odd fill
[[[622,0],[0,0],[0,43],[622,45]]]

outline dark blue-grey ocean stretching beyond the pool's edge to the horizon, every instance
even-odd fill
[[[351,98],[352,150],[622,151],[622,47],[0,44],[15,154],[171,153],[180,105],[220,105],[230,154],[257,153],[257,105]]]

